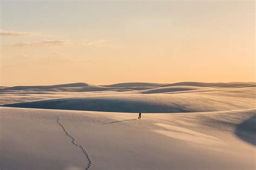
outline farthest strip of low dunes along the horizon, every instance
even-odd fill
[[[84,92],[84,91],[102,91],[102,90],[113,90],[113,91],[129,91],[129,90],[146,90],[146,89],[157,89],[162,88],[176,89],[176,91],[190,89],[202,89],[202,87],[256,87],[255,82],[233,82],[233,83],[201,83],[201,82],[180,82],[173,84],[164,83],[118,83],[111,85],[97,86],[88,83],[70,83],[70,84],[57,84],[51,86],[15,86],[15,87],[1,87],[0,93],[4,91],[69,91],[69,92]]]

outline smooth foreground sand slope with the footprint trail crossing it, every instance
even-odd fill
[[[1,108],[1,169],[87,168],[57,117],[91,169],[255,169],[255,113]]]

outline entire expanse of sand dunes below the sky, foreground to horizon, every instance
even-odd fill
[[[0,169],[255,169],[255,91],[254,82],[3,87]]]

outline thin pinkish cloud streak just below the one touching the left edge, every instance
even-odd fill
[[[70,45],[72,44],[70,40],[43,40],[40,42],[16,42],[12,44],[13,47],[42,47],[42,46],[60,46],[60,45]]]

